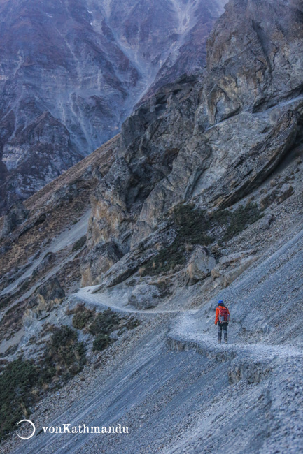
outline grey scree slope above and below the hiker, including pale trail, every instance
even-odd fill
[[[274,254],[195,314],[139,314],[141,325],[109,347],[99,369],[85,369],[45,397],[39,407],[51,411],[32,416],[39,428],[121,423],[129,436],[38,433],[10,452],[299,453],[302,249],[303,231],[288,233]],[[80,300],[128,309],[122,289],[112,289],[111,298],[109,291],[87,290]],[[217,298],[229,302],[232,313],[227,346],[216,344]]]

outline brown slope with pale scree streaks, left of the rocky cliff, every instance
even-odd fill
[[[116,142],[109,140],[0,218],[0,353],[2,339],[24,334],[22,316],[38,286],[55,277],[66,293],[80,286],[90,195],[113,163]]]

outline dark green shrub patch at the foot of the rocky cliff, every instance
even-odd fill
[[[177,231],[174,242],[145,263],[141,275],[156,275],[181,267],[195,244],[227,242],[260,217],[258,205],[252,201],[236,210],[217,210],[211,214],[195,205],[178,205],[171,214]]]

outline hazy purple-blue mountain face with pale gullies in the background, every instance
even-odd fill
[[[2,0],[0,210],[115,136],[153,82],[201,69],[223,3]]]

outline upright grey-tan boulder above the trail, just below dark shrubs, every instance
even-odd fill
[[[186,272],[190,279],[200,281],[211,275],[216,259],[206,247],[198,247],[190,257]]]

